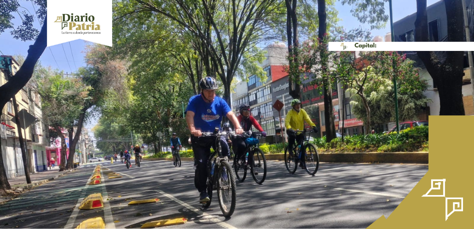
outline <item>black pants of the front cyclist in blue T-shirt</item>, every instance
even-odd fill
[[[194,185],[201,193],[206,191],[206,180],[208,178],[207,166],[211,156],[211,147],[216,151],[216,137],[192,137],[191,144],[193,146],[194,158],[196,160],[196,172],[194,177]],[[229,156],[229,145],[225,137],[221,137],[222,156]]]

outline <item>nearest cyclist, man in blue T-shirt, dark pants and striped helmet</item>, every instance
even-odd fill
[[[198,142],[198,137],[202,135],[202,132],[214,132],[215,128],[220,129],[224,116],[228,117],[234,124],[237,134],[242,134],[243,130],[226,100],[216,96],[216,89],[218,88],[216,79],[205,77],[201,79],[199,86],[201,87],[201,94],[189,99],[186,108],[186,122],[191,132],[191,145],[197,163],[194,185],[200,193],[199,202],[205,203],[210,201],[206,192],[207,165],[211,147],[216,147],[216,138],[203,137]],[[221,137],[221,149],[223,156],[229,155],[229,146],[224,136]]]

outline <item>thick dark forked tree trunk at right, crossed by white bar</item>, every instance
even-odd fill
[[[448,19],[448,41],[465,41],[463,30],[463,8],[460,0],[445,0]],[[426,0],[417,0],[417,19],[415,20],[415,40],[428,40],[428,17]],[[465,115],[462,81],[463,51],[448,51],[444,63],[433,51],[417,51],[428,73],[438,87],[440,95],[440,115]]]

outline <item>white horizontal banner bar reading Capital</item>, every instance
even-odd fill
[[[329,42],[329,51],[474,51],[474,42]]]

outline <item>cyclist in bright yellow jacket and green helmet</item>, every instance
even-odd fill
[[[301,109],[301,102],[299,99],[293,99],[291,101],[291,106],[293,109],[288,111],[288,114],[286,115],[285,127],[286,133],[288,134],[288,152],[291,156],[293,156],[295,140],[296,142],[299,142],[301,139],[304,139],[303,133],[295,133],[293,130],[303,130],[304,121],[313,127],[314,133],[318,132],[318,128],[316,128],[316,125],[311,122],[311,119],[309,119],[306,111]]]

